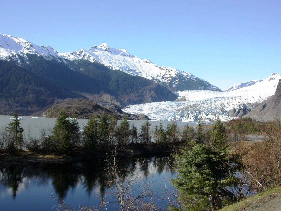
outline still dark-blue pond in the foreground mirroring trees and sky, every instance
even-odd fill
[[[118,175],[128,181],[134,173],[137,182],[132,189],[138,194],[145,185],[154,193],[155,203],[167,208],[166,185],[174,177],[167,157],[120,158]],[[79,204],[98,206],[100,198],[113,202],[108,181],[107,162],[93,160],[79,163],[30,162],[14,165],[0,165],[0,205],[8,210],[56,210],[57,202],[50,195],[65,200],[75,208]],[[133,167],[136,166],[134,169]],[[108,210],[117,210],[115,204],[108,204]]]

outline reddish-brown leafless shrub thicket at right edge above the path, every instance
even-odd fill
[[[281,184],[281,126],[280,121],[266,126],[263,142],[244,144],[243,161],[257,192]]]

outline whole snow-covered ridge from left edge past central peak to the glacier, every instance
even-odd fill
[[[141,76],[153,80],[166,86],[171,91],[180,90],[216,90],[216,86],[202,80],[191,73],[171,68],[161,67],[153,64],[148,59],[140,59],[131,55],[125,49],[110,48],[108,44],[102,43],[99,46],[93,46],[87,51],[84,49],[70,52],[58,53],[51,47],[37,46],[28,40],[10,35],[0,34],[0,59],[18,60],[19,55],[25,57],[26,54],[42,55],[45,58],[67,60],[85,59],[95,63],[102,63],[110,69],[119,69],[130,75]]]

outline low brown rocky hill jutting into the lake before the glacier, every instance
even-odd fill
[[[42,117],[57,118],[62,110],[65,110],[69,117],[78,119],[89,119],[93,115],[100,117],[105,111],[108,115],[115,114],[118,120],[122,119],[123,115],[127,116],[128,120],[146,120],[147,116],[133,115],[125,113],[116,106],[101,107],[97,103],[86,99],[66,99],[57,100],[56,104],[42,113]]]

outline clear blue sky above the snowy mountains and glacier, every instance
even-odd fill
[[[281,73],[281,1],[3,1],[0,33],[58,52],[106,42],[225,90]]]

